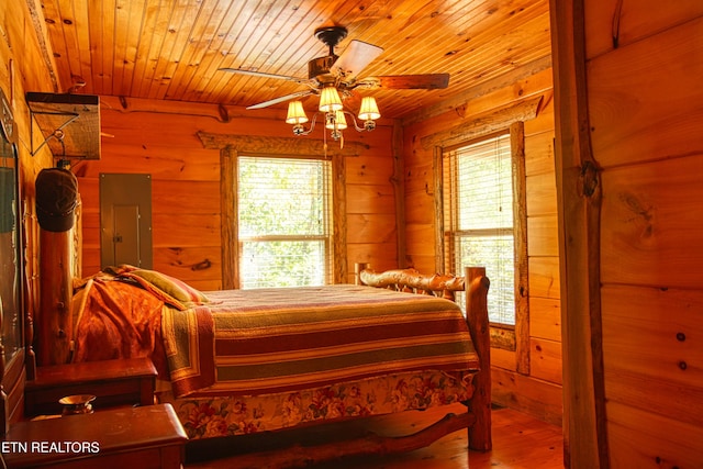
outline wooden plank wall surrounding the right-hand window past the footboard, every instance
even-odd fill
[[[543,97],[537,116],[525,121],[529,372],[517,372],[514,351],[492,348],[491,359],[495,402],[560,424],[561,321],[551,82],[551,69],[546,68],[510,87],[477,93],[467,98],[464,105],[404,127],[405,263],[421,271],[436,269],[435,222],[440,214],[434,208],[434,148],[424,147],[421,139],[450,133],[453,127],[470,124],[480,116]]]

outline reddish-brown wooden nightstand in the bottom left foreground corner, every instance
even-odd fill
[[[19,422],[0,442],[8,468],[180,469],[188,437],[170,404]]]

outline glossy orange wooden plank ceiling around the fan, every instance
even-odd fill
[[[550,64],[548,0],[44,0],[58,92],[252,105],[304,85],[327,55],[314,31],[343,25],[383,52],[359,78],[449,74],[437,90],[369,89],[386,118],[505,86]],[[309,98],[314,99],[316,98]],[[276,104],[284,108],[286,102]],[[250,111],[256,112],[256,111]]]

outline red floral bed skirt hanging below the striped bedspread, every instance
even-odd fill
[[[254,397],[208,397],[170,402],[190,439],[244,435],[302,423],[422,410],[468,401],[472,375],[406,372],[312,390]]]

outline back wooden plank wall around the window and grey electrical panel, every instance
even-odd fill
[[[100,174],[141,172],[152,175],[154,268],[202,290],[222,288],[220,152],[205,149],[198,133],[293,138],[283,111],[102,97],[101,119],[101,159],[74,165],[83,201],[83,276],[100,269]],[[392,123],[382,122],[371,133],[345,132],[347,146],[368,147],[345,157],[344,165],[352,266],[397,266],[392,134]],[[297,138],[322,138],[322,133],[316,129]],[[331,153],[335,145],[328,142]]]

